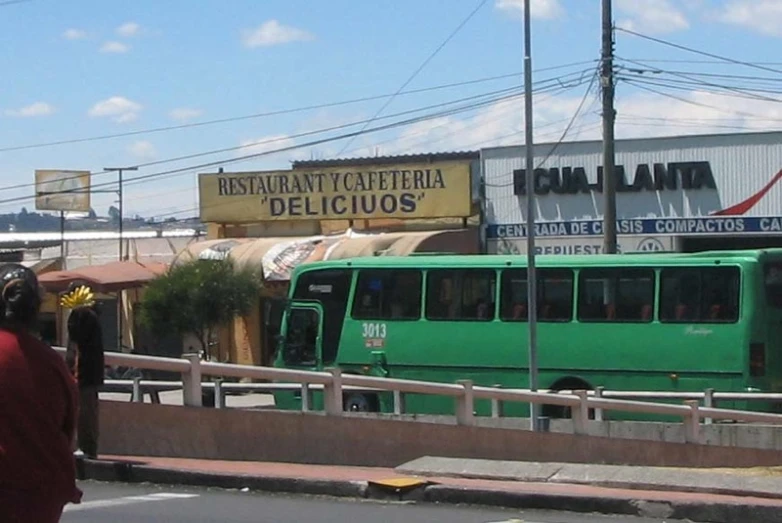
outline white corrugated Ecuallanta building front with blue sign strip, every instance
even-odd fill
[[[540,254],[602,252],[600,141],[535,146]],[[484,248],[526,253],[523,147],[481,151]],[[782,132],[616,142],[620,252],[782,246]]]

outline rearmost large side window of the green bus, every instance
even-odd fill
[[[660,321],[731,323],[739,317],[738,267],[663,269]]]

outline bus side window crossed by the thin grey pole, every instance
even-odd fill
[[[570,321],[573,317],[573,271],[538,269],[537,317],[543,322]],[[527,269],[502,271],[500,317],[503,321],[527,321]]]

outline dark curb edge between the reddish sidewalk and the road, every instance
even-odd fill
[[[774,505],[749,505],[715,502],[663,502],[645,499],[571,496],[507,492],[481,488],[425,485],[396,492],[378,488],[366,481],[319,480],[275,476],[252,476],[164,469],[143,464],[76,460],[77,477],[122,483],[153,483],[205,488],[249,489],[251,491],[396,500],[449,505],[480,505],[510,509],[558,510],[576,513],[600,513],[663,519],[681,519],[708,523],[777,523],[782,508]]]

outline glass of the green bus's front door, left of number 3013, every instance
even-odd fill
[[[323,368],[323,307],[319,303],[291,302],[285,312],[282,358],[286,366]]]

